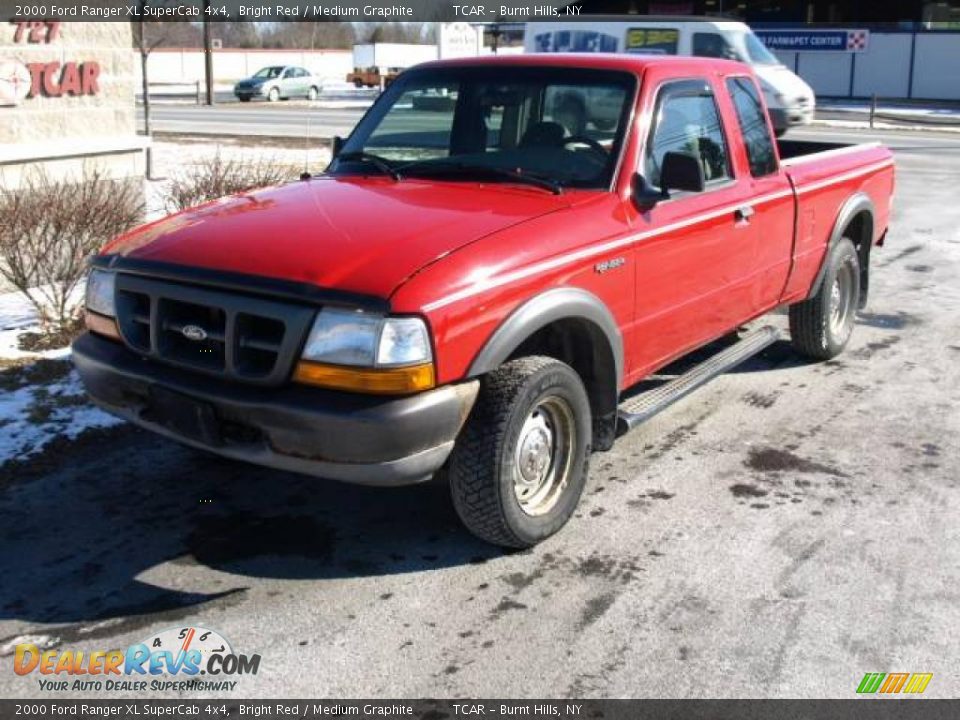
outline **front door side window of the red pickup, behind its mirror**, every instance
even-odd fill
[[[660,90],[653,130],[644,151],[643,177],[660,187],[668,152],[692,155],[703,167],[707,186],[730,180],[730,153],[713,90],[705,81],[684,80]]]

